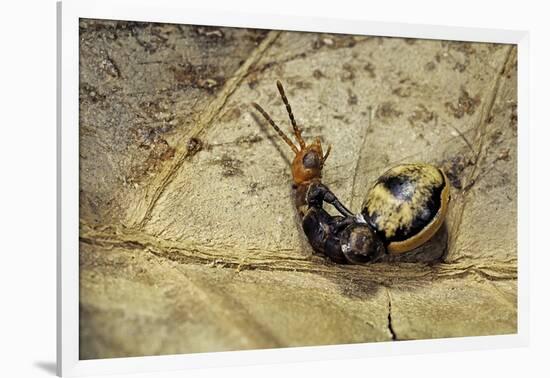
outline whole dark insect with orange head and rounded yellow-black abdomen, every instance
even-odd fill
[[[437,232],[450,201],[449,181],[441,169],[423,163],[389,169],[367,191],[361,213],[353,214],[321,182],[331,146],[323,154],[319,138],[306,144],[280,81],[277,88],[299,147],[260,105],[252,105],[294,152],[295,206],[316,252],[338,263],[362,264],[379,260],[386,253],[410,251]],[[330,215],[323,208],[325,202],[341,215]]]

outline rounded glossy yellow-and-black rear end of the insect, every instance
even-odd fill
[[[449,181],[429,164],[403,164],[369,189],[362,214],[390,253],[410,251],[441,227],[450,201]]]

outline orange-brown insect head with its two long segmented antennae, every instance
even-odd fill
[[[277,81],[277,88],[279,89],[281,98],[286,106],[290,122],[292,123],[292,127],[294,129],[294,136],[296,137],[300,148],[296,147],[294,143],[292,143],[290,138],[288,138],[286,134],[281,131],[279,126],[275,124],[269,114],[267,114],[267,112],[263,110],[260,105],[255,102],[253,102],[252,105],[271,124],[279,136],[286,142],[286,144],[290,146],[292,151],[294,151],[295,156],[292,161],[292,178],[294,180],[294,184],[303,185],[314,179],[320,179],[321,171],[323,170],[325,161],[328,158],[331,146],[329,145],[326,154],[323,155],[323,147],[321,146],[321,140],[319,138],[315,138],[313,143],[306,145],[304,139],[302,138],[302,130],[296,124],[294,114],[292,113],[292,109],[288,103],[283,85],[280,81]]]

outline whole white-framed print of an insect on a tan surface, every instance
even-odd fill
[[[58,27],[59,374],[525,344],[527,33]]]

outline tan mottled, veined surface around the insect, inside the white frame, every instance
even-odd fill
[[[517,50],[498,44],[81,22],[80,356],[517,331]],[[368,266],[313,256],[292,152],[333,150],[360,211],[392,165],[441,166],[447,224]],[[448,248],[446,248],[446,246]]]

